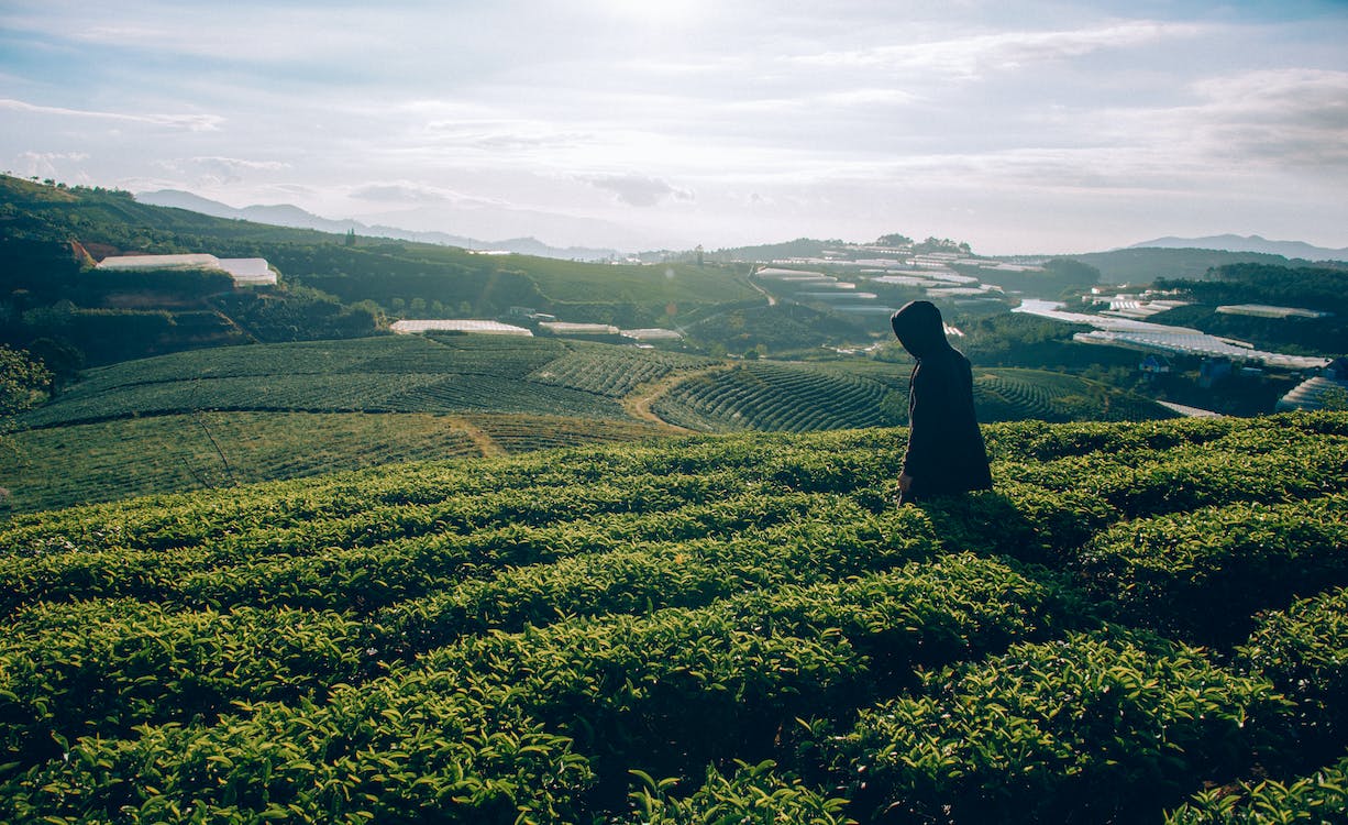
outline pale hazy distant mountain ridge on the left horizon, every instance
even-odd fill
[[[368,225],[352,218],[333,220],[313,214],[311,212],[306,212],[299,206],[290,204],[278,204],[272,206],[255,205],[240,209],[177,189],[136,193],[136,201],[150,204],[152,206],[171,206],[174,209],[186,209],[187,212],[197,212],[212,217],[253,221],[257,224],[270,224],[272,226],[317,229],[319,232],[333,232],[338,235],[355,231],[356,235],[363,236],[391,237],[423,244],[442,244],[464,249],[499,249],[504,252],[518,252],[520,255],[559,257],[563,260],[603,260],[620,256],[616,249],[607,248],[549,247],[543,241],[534,237],[512,237],[499,241],[484,241],[458,235],[449,235],[446,232],[417,232],[412,229],[400,229],[398,226],[384,226],[379,224]]]

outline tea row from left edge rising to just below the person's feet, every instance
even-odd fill
[[[646,545],[504,568],[442,594],[400,601],[372,624],[291,608],[38,604],[11,617],[13,635],[0,643],[0,696],[16,706],[0,716],[30,721],[0,729],[12,733],[11,750],[23,754],[50,744],[32,736],[44,725],[67,739],[124,733],[132,724],[214,714],[232,700],[311,696],[464,635],[543,625],[568,615],[704,605],[754,589],[883,570],[936,551],[930,526],[915,511],[836,531],[832,524],[841,515],[814,515],[724,542]],[[334,601],[344,593],[353,600],[334,586]],[[278,634],[276,644],[271,634]],[[109,671],[109,662],[120,669]]]

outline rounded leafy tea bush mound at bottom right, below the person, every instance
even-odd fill
[[[1069,634],[931,671],[829,747],[865,817],[1131,821],[1247,767],[1282,705],[1197,650]]]

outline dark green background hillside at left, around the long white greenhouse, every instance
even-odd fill
[[[179,272],[177,282],[160,278],[146,288],[90,270],[129,252],[263,257],[280,282],[208,288]],[[142,204],[124,191],[0,175],[0,342],[27,348],[61,340],[90,365],[247,341],[363,337],[388,318],[492,318],[512,307],[650,328],[743,301],[762,301],[745,267],[479,255],[226,220]]]

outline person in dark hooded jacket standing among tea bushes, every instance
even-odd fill
[[[945,340],[941,310],[913,301],[890,318],[917,365],[909,377],[909,446],[899,475],[899,503],[992,489],[988,454],[973,414],[969,360]]]

